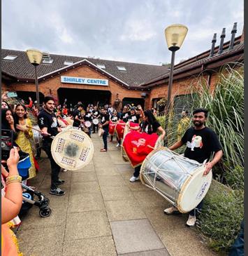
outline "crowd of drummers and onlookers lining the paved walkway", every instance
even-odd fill
[[[204,173],[204,175],[207,175],[212,167],[221,159],[223,154],[221,144],[214,131],[205,126],[208,114],[207,109],[196,109],[193,112],[192,122],[194,126],[192,127],[189,127],[190,119],[188,114],[188,112],[182,113],[182,120],[180,121],[180,127],[178,127],[178,141],[171,145],[169,149],[175,150],[186,144],[187,147],[184,156],[196,160],[199,163],[203,163],[203,161],[207,159]],[[50,194],[56,196],[63,196],[65,194],[65,191],[59,187],[60,184],[64,184],[65,182],[59,178],[61,168],[54,161],[51,152],[52,136],[56,136],[61,132],[61,128],[71,125],[74,128],[85,131],[89,137],[91,137],[92,133],[98,133],[99,129],[102,129],[103,148],[101,149],[101,152],[108,151],[108,142],[113,142],[113,135],[110,135],[108,140],[110,121],[112,123],[117,123],[120,120],[124,122],[131,121],[138,124],[137,127],[129,127],[131,130],[140,129],[141,132],[147,134],[157,133],[161,135],[162,140],[166,136],[166,131],[156,120],[156,109],[147,109],[144,111],[140,105],[125,105],[120,112],[117,112],[117,109],[112,107],[111,104],[102,107],[89,104],[85,108],[82,105],[82,102],[78,102],[73,109],[68,109],[66,105],[56,106],[54,97],[46,96],[43,100],[43,107],[38,111],[36,102],[33,104],[30,97],[28,105],[25,105],[24,102],[20,101],[11,106],[8,104],[8,100],[2,100],[2,129],[12,131],[13,146],[15,147],[15,149],[10,150],[8,161],[5,161],[9,172],[6,172],[5,170],[4,161],[2,162],[3,164],[1,167],[2,180],[5,182],[5,186],[11,187],[11,189],[8,190],[8,193],[2,193],[2,198],[6,198],[2,200],[2,208],[10,206],[6,212],[3,212],[2,227],[3,224],[13,220],[13,217],[18,213],[18,209],[20,210],[20,194],[22,193],[22,189],[19,184],[17,185],[17,183],[20,182],[20,176],[18,175],[16,167],[19,154],[26,152],[29,154],[31,161],[29,177],[24,181],[21,179],[22,182],[29,183],[29,179],[35,177],[39,170],[37,159],[40,153],[37,151],[34,143],[33,124],[30,119],[31,115],[32,118],[35,117],[37,119],[38,127],[41,129],[41,135],[43,137],[42,149],[47,154],[51,166]],[[200,147],[194,147],[192,150],[191,145],[196,136],[200,136],[202,143],[200,144]],[[121,139],[117,137],[116,146],[119,147],[120,144]],[[214,154],[214,157],[211,159],[212,154]],[[139,179],[139,175],[140,166],[137,166],[133,176],[130,178],[130,182],[136,182]],[[15,200],[12,200],[11,196],[14,192]],[[196,209],[200,210],[202,205],[203,201],[199,203]],[[189,220],[187,221],[189,227],[194,226],[196,223],[196,209],[189,213]],[[164,210],[164,213],[166,214],[173,214],[176,212],[177,208],[174,206]]]

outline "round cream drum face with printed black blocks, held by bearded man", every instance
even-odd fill
[[[94,146],[86,133],[71,128],[54,137],[51,152],[54,161],[61,168],[78,170],[92,160]]]

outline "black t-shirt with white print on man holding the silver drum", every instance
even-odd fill
[[[219,139],[210,128],[196,130],[189,128],[182,137],[182,142],[187,144],[184,156],[203,163],[205,159],[210,160],[211,154],[222,149]]]

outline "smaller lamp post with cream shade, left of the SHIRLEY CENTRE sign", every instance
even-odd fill
[[[29,49],[26,50],[27,57],[29,58],[29,62],[31,65],[34,65],[34,72],[35,72],[35,82],[36,82],[36,100],[37,100],[37,108],[40,111],[40,96],[38,90],[38,78],[37,78],[37,66],[41,64],[42,60],[42,53],[40,50],[36,49]]]

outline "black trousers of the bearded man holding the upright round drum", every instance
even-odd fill
[[[56,189],[57,188],[56,183],[59,180],[60,167],[57,165],[57,163],[52,158],[51,144],[52,144],[52,142],[43,140],[43,150],[48,155],[48,159],[50,160],[50,164],[51,164],[51,189]]]

